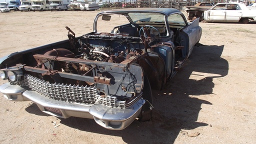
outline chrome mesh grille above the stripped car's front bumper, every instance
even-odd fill
[[[79,86],[71,84],[49,83],[48,81],[34,77],[32,75],[24,76],[25,85],[32,90],[48,96],[53,99],[65,100],[70,102],[79,103],[98,103],[112,106],[112,107],[125,107],[125,101],[117,100],[115,96],[107,95],[101,97],[95,86]]]

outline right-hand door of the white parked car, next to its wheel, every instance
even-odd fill
[[[238,4],[226,4],[226,21],[238,22],[241,16],[242,10]]]

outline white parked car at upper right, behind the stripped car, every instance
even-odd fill
[[[205,22],[242,22],[256,21],[256,11],[248,9],[243,3],[217,3],[204,11]]]

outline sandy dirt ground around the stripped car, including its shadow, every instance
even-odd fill
[[[64,26],[77,36],[90,32],[98,12],[0,13],[0,57],[67,39]],[[256,23],[199,25],[202,45],[163,90],[153,90],[152,120],[107,130],[0,94],[0,143],[256,143]]]

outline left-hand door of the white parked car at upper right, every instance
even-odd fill
[[[208,20],[225,21],[226,4],[215,5],[208,14]]]

